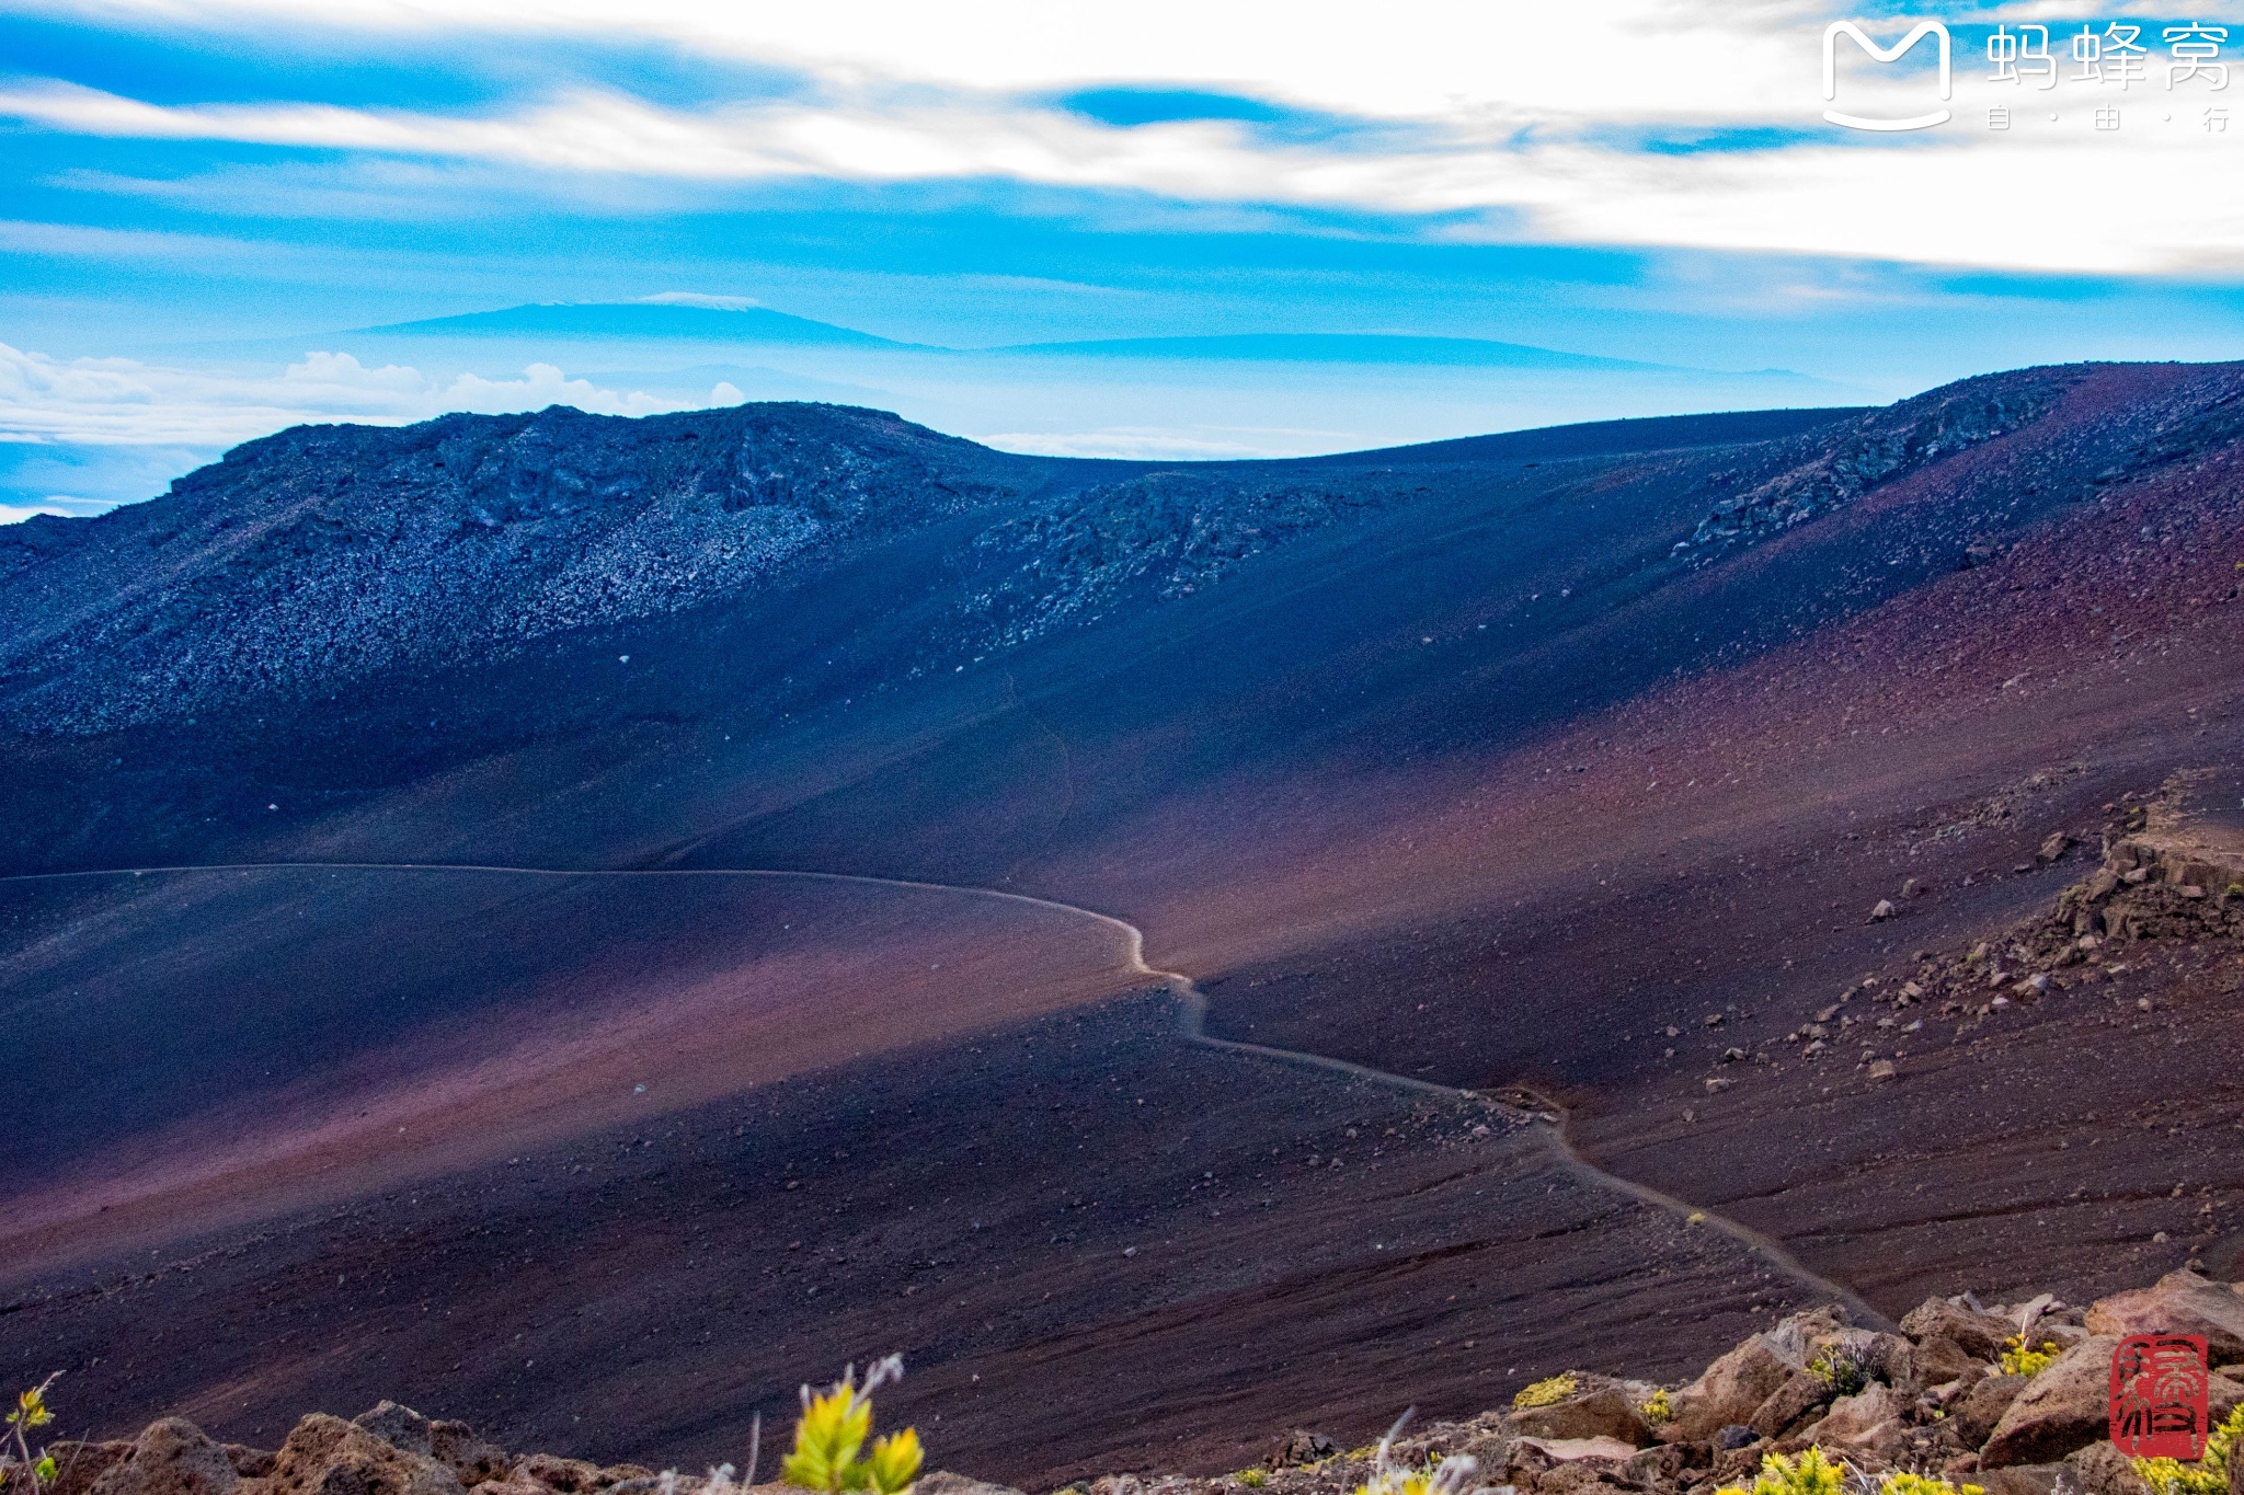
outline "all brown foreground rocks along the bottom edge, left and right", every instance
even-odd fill
[[[1712,1495],[1750,1484],[1771,1452],[1811,1446],[1860,1475],[1910,1470],[1988,1495],[2150,1495],[2105,1441],[2112,1349],[2127,1334],[2201,1334],[2213,1421],[2244,1403],[2244,1284],[2177,1271],[2087,1309],[1932,1298],[1901,1334],[1856,1327],[1840,1304],[1793,1313],[1681,1387],[1569,1372],[1544,1405],[1409,1428],[1391,1464],[1477,1461],[1481,1491],[1510,1495]],[[2008,1374],[2024,1345],[2049,1363]],[[1546,1383],[1548,1385],[1548,1383]],[[384,1401],[352,1421],[305,1417],[278,1450],[218,1443],[166,1417],[139,1439],[58,1443],[49,1495],[720,1495],[727,1473],[655,1473],[554,1455],[509,1455],[456,1421]],[[1373,1448],[1337,1452],[1317,1432],[1277,1439],[1259,1468],[1218,1477],[1106,1475],[1059,1495],[1353,1495]],[[776,1464],[776,1459],[774,1459]],[[2244,1459],[2231,1491],[2244,1495]],[[765,1486],[781,1495],[785,1486]],[[1470,1486],[1468,1486],[1470,1488]],[[1014,1495],[925,1475],[913,1495]]]

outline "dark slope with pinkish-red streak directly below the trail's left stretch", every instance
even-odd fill
[[[238,1217],[1140,979],[1059,910],[799,876],[63,879],[0,928],[16,1060],[85,1076],[0,1161],[0,1233]]]

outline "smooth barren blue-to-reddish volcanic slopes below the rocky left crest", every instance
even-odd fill
[[[9,856],[1021,892],[1140,926],[1218,1038],[1555,1096],[1598,1163],[1894,1316],[2235,1275],[2233,937],[2116,935],[1907,1031],[1871,993],[2002,957],[2172,784],[2235,800],[2240,392],[2085,365],[1174,475],[942,448],[972,493],[880,486],[799,569],[503,657],[213,666],[130,722],[72,715],[105,677],[11,666]],[[289,473],[287,524],[361,502]],[[193,489],[211,533],[263,513],[231,491]],[[186,533],[180,502],[99,520],[105,556]],[[532,509],[413,565],[615,542],[579,533],[597,507]],[[38,524],[9,616],[94,574]],[[188,648],[245,605],[135,623],[128,592],[88,628]],[[34,634],[0,643],[79,648]],[[797,1381],[902,1349],[945,1461],[1057,1484],[1564,1365],[1681,1372],[1797,1298],[1490,1101],[1185,1044],[1097,921],[476,876],[0,885],[40,1076],[4,1103],[31,1141],[0,1174],[0,1365],[72,1365],[103,1432],[182,1408],[254,1439],[388,1394],[714,1461]],[[1860,1024],[1820,1018],[1845,993]]]

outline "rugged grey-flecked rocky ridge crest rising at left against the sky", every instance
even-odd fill
[[[148,504],[0,529],[0,711],[112,731],[505,659],[754,592],[1039,480],[1032,459],[846,406],[298,426]]]

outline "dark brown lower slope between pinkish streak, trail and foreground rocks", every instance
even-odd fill
[[[1293,1419],[1369,1439],[1400,1387],[1470,1410],[1584,1322],[1661,1325],[1679,1374],[1800,1300],[1483,1105],[1171,1033],[1126,1000],[49,1278],[0,1363],[72,1363],[103,1432],[182,1408],[272,1441],[316,1390],[691,1466],[877,1347],[934,1459],[1059,1482],[1239,1468]]]

